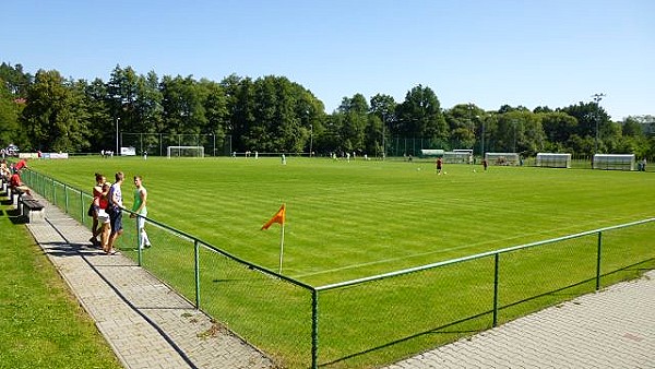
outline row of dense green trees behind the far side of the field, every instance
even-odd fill
[[[236,152],[401,155],[392,145],[403,138],[420,140],[419,148],[473,148],[476,155],[655,156],[655,138],[646,130],[653,117],[611,121],[597,102],[534,110],[503,105],[488,111],[471,103],[442,108],[437,94],[419,84],[403,102],[355,94],[326,112],[310,90],[285,76],[231,74],[215,82],[120,66],[105,82],[67,79],[56,70],[33,75],[3,62],[0,82],[0,145],[27,152],[111,148],[120,122],[121,132],[229,136]]]

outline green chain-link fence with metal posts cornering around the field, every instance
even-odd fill
[[[24,181],[91,226],[90,194],[32,170]],[[153,219],[140,249],[123,218],[123,254],[291,368],[392,362],[655,267],[651,218],[314,287]]]

